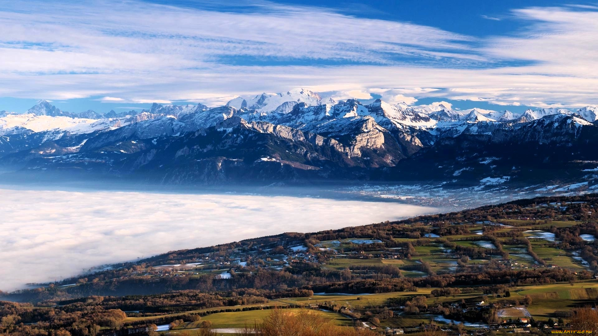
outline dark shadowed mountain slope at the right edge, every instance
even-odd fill
[[[441,138],[401,161],[386,178],[467,184],[508,176],[512,185],[588,181],[594,177],[584,169],[595,168],[597,145],[598,127],[572,115],[547,115],[532,123],[499,124],[489,132]]]

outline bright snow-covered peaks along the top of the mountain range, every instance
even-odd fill
[[[462,126],[463,123],[499,122],[499,123],[526,123],[538,120],[547,115],[568,114],[579,115],[584,120],[594,122],[598,119],[597,106],[585,106],[576,111],[569,109],[546,108],[533,111],[528,109],[523,114],[510,111],[490,111],[484,109],[454,110],[444,105],[414,107],[399,103],[390,105],[378,99],[370,105],[362,105],[356,99],[335,102],[331,98],[322,99],[319,94],[305,89],[288,91],[287,93],[263,93],[252,99],[237,97],[230,100],[225,106],[234,108],[234,114],[246,120],[269,121],[280,124],[308,123],[310,121],[328,120],[347,117],[370,116],[387,129],[416,127],[417,129],[432,130],[446,129]],[[124,126],[131,122],[154,119],[156,117],[181,118],[186,114],[202,111],[218,111],[218,108],[208,108],[199,105],[161,105],[154,103],[151,108],[142,112],[114,112],[101,114],[95,111],[71,113],[61,111],[56,106],[45,100],[40,100],[35,106],[23,114],[0,112],[0,132],[7,132],[14,127],[23,127],[33,132],[49,130],[71,130],[76,125],[88,125],[87,130],[92,132],[98,127],[107,127],[119,124]],[[293,112],[293,113],[291,113]],[[136,115],[146,115],[141,118],[131,118]],[[109,121],[111,120],[114,124]],[[99,126],[99,125],[103,126]],[[200,125],[202,126],[202,125]],[[203,125],[203,127],[209,124]],[[78,132],[84,132],[86,127],[79,127]],[[8,131],[10,132],[10,131]]]

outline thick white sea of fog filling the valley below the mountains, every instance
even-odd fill
[[[439,209],[392,202],[234,194],[0,187],[0,289],[90,267],[236,240],[370,224]]]

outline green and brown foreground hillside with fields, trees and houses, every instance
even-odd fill
[[[106,335],[151,325],[201,335],[307,308],[364,332],[547,334],[595,312],[596,209],[594,194],[540,197],[170,251],[4,294],[32,304],[4,302],[0,314],[65,329],[74,318]]]

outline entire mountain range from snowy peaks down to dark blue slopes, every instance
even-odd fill
[[[356,99],[335,102],[303,88],[236,97],[214,108],[154,103],[141,112],[106,114],[61,111],[41,100],[23,114],[0,112],[0,166],[19,172],[78,169],[105,176],[154,176],[175,183],[475,179],[477,170],[492,177],[529,158],[506,148],[545,155],[541,162],[557,160],[560,169],[569,164],[561,162],[565,156],[598,162],[591,146],[598,142],[593,136],[597,109],[516,114],[443,104],[391,105],[380,99],[362,104]],[[470,162],[483,155],[491,156],[493,164]],[[465,163],[471,167],[463,167]],[[426,169],[418,167],[422,164]],[[465,173],[454,175],[459,169]]]

